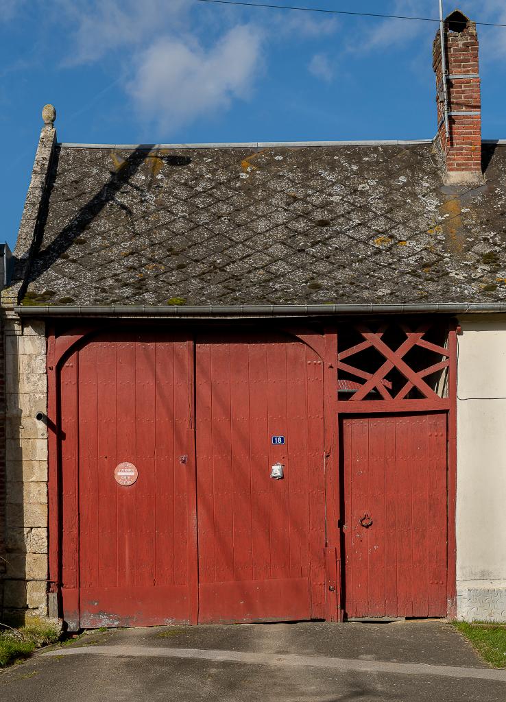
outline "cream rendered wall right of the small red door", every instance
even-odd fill
[[[506,315],[459,322],[457,613],[506,621]]]

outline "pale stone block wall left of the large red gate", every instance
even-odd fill
[[[4,616],[46,616],[48,441],[44,322],[5,323],[6,572]]]

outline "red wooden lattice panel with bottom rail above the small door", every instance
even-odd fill
[[[347,325],[338,335],[340,411],[447,409],[454,331],[432,322]],[[346,382],[348,381],[348,382]]]

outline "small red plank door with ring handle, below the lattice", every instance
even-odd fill
[[[341,420],[345,612],[446,616],[446,413]]]

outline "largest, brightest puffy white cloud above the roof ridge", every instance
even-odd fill
[[[135,59],[127,86],[140,113],[168,131],[246,98],[261,61],[262,37],[251,25],[229,30],[214,46],[160,37]]]

